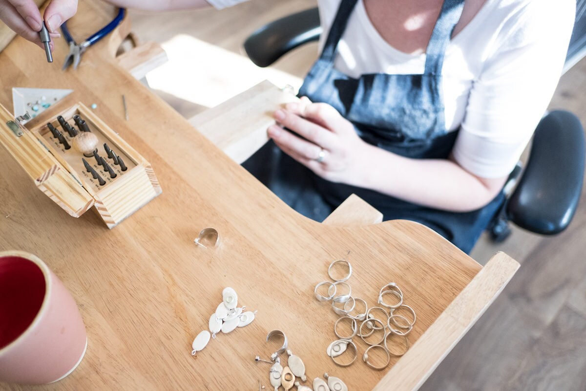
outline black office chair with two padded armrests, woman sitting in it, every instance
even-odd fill
[[[578,1],[577,11],[564,72],[586,54],[586,0]],[[318,9],[307,9],[258,29],[244,42],[244,49],[255,64],[266,67],[290,50],[318,40],[321,33]],[[584,129],[574,114],[556,110],[541,119],[526,167],[517,164],[510,174],[505,187],[516,187],[488,227],[493,240],[502,242],[509,236],[509,221],[544,235],[560,233],[570,224],[582,192],[584,145]]]

